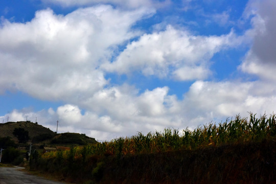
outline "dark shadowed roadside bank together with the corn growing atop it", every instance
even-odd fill
[[[70,150],[31,154],[30,170],[75,183],[276,182],[276,116],[236,116]]]

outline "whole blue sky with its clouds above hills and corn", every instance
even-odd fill
[[[0,4],[0,121],[98,140],[195,128],[276,102],[272,0]]]

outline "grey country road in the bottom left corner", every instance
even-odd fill
[[[20,171],[20,167],[0,167],[0,184],[62,184]]]

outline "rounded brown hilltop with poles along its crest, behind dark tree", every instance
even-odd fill
[[[29,137],[32,140],[33,137],[41,135],[41,134],[50,134],[52,136],[55,135],[55,132],[50,130],[49,128],[45,128],[42,125],[38,125],[36,123],[32,123],[29,121],[21,121],[21,122],[8,122],[0,124],[0,137],[10,136],[13,140],[17,141],[16,137],[13,135],[13,130],[15,128],[24,128],[29,132]]]

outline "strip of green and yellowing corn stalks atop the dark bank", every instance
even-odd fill
[[[256,114],[250,113],[250,117],[236,116],[233,120],[227,119],[224,123],[204,125],[193,131],[186,128],[167,128],[164,132],[149,132],[144,135],[141,132],[131,137],[120,137],[110,142],[102,142],[84,147],[75,147],[71,150],[47,152],[42,158],[83,158],[91,155],[135,155],[145,153],[160,153],[176,150],[191,150],[209,146],[225,144],[245,143],[250,141],[262,141],[275,137],[276,117],[262,116],[256,118]]]

